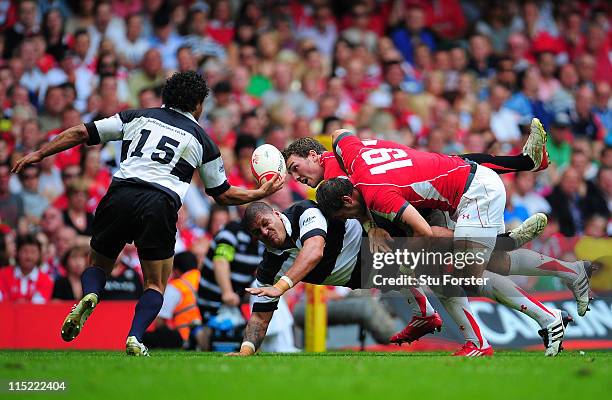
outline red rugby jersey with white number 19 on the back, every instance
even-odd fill
[[[366,206],[396,221],[408,204],[417,209],[457,209],[471,165],[460,157],[427,153],[387,140],[364,140],[348,133],[334,153]]]

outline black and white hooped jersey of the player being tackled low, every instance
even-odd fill
[[[271,286],[289,270],[302,249],[303,243],[314,236],[325,238],[323,258],[312,271],[302,279],[319,285],[346,286],[359,263],[362,228],[359,221],[348,219],[326,219],[310,201],[300,201],[282,212],[281,218],[287,236],[295,246],[285,249],[266,248],[263,260],[256,272],[254,287]],[[273,311],[277,298],[255,297],[253,312]]]

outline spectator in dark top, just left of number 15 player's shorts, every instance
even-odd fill
[[[66,276],[60,276],[53,285],[53,298],[58,300],[79,300],[83,297],[81,274],[87,268],[89,248],[76,246],[64,255],[62,265]]]

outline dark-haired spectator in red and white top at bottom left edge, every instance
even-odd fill
[[[32,235],[17,239],[17,264],[0,268],[0,301],[46,303],[51,299],[53,281],[39,268],[40,242]]]

